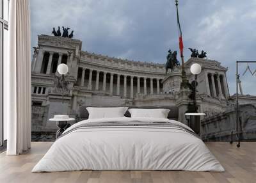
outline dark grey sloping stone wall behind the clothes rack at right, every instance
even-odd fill
[[[223,113],[201,121],[200,136],[204,141],[256,140],[256,107],[252,104],[239,105],[239,122],[236,125],[236,108],[228,107]],[[233,133],[232,133],[233,132]]]

